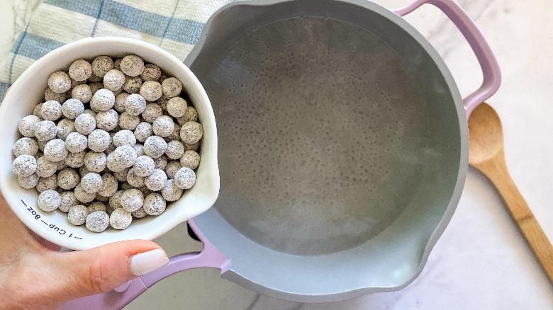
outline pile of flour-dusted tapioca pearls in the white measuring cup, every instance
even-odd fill
[[[23,117],[13,173],[90,231],[159,215],[196,182],[203,128],[179,79],[136,55],[78,59],[48,79],[45,102]]]

